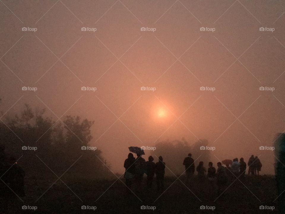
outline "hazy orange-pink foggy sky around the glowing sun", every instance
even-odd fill
[[[55,120],[94,120],[91,145],[114,172],[129,146],[184,137],[208,139],[213,162],[261,155],[261,172],[273,174],[273,152],[259,147],[285,130],[284,1],[2,1],[3,113],[27,103]]]

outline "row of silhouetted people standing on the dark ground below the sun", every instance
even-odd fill
[[[128,158],[124,163],[124,168],[126,169],[124,174],[126,185],[130,188],[132,186],[132,181],[134,181],[136,190],[140,190],[140,188],[142,188],[141,184],[145,173],[147,175],[147,188],[150,189],[152,188],[153,178],[156,174],[157,190],[163,191],[165,163],[163,162],[162,156],[159,156],[158,162],[154,163],[153,161],[154,158],[152,156],[149,156],[148,161],[145,161],[142,155],[137,154],[137,158],[134,158],[134,155],[129,153]],[[193,181],[195,172],[194,162],[191,153],[189,153],[182,163],[185,166],[185,185],[187,188],[191,188],[191,182]],[[215,186],[217,186],[217,192],[220,194],[223,187],[229,182],[243,180],[247,169],[244,159],[240,158],[239,161],[238,158],[234,158],[233,161],[230,162],[231,163],[224,164],[226,166],[223,166],[221,162],[218,162],[217,169],[213,166],[212,162],[209,162],[208,170],[206,170],[204,162],[200,161],[199,165],[196,167],[198,182],[205,182],[207,177],[210,193],[214,193]],[[261,167],[262,164],[259,158],[251,155],[248,160],[248,174],[259,175]]]

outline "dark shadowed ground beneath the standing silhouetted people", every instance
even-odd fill
[[[181,176],[180,179],[183,181],[184,177]],[[48,189],[56,180],[57,178],[45,181],[30,178],[25,185],[26,196],[20,197],[24,202],[10,191],[11,195],[1,199],[0,213],[278,213],[273,176],[247,176],[244,185],[236,181],[221,196],[217,193],[211,195],[207,180],[200,183],[197,177],[190,188],[193,193],[176,177],[167,177],[164,190],[169,188],[163,194],[156,191],[155,178],[150,190],[137,192],[132,187],[135,194],[120,180],[70,182],[62,179],[68,187],[58,180]],[[229,185],[230,183],[227,184]],[[143,187],[145,186],[146,180],[143,181]],[[37,210],[23,210],[23,205],[37,206]],[[96,209],[82,210],[83,205],[96,206]],[[155,206],[156,209],[142,210],[143,205]],[[214,206],[215,209],[201,210],[200,206],[203,205]],[[260,210],[259,206],[262,205],[274,206],[275,209]]]

